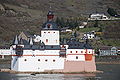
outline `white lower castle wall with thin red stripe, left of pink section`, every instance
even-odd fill
[[[14,70],[16,71],[45,71],[52,69],[64,69],[64,58],[59,57],[59,50],[24,50],[22,57],[18,59]]]

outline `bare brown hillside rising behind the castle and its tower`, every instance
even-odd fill
[[[55,17],[88,17],[113,8],[120,14],[120,0],[0,0],[0,45],[9,44],[21,31],[39,34],[51,9]]]

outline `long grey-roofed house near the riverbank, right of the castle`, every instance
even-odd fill
[[[99,48],[100,56],[109,56],[109,55],[117,55],[120,50],[120,47],[113,46],[103,46]]]

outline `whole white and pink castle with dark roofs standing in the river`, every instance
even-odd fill
[[[41,35],[16,36],[11,46],[11,70],[21,72],[95,72],[94,49],[75,37],[60,44],[60,30],[49,11]]]

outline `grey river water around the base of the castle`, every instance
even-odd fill
[[[2,66],[0,64],[0,66]],[[2,66],[4,67],[4,66]],[[2,68],[1,67],[1,68]],[[0,73],[0,80],[120,80],[120,64],[97,64],[97,74],[10,74]]]

